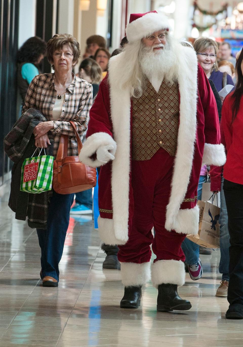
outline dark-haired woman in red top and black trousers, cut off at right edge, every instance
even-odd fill
[[[229,308],[226,318],[243,319],[243,50],[236,63],[237,84],[222,107],[221,141],[227,150],[224,193],[228,211]]]

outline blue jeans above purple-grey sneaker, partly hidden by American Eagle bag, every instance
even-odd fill
[[[207,182],[207,176],[200,176],[198,183],[198,200],[202,198],[202,184]],[[188,238],[182,243],[182,250],[185,254],[185,262],[189,265],[196,264],[199,261],[199,245]]]

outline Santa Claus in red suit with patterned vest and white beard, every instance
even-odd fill
[[[216,101],[195,52],[173,39],[167,17],[132,14],[126,34],[90,111],[80,159],[101,166],[99,232],[119,246],[120,307],[140,305],[151,273],[158,311],[189,310],[177,293],[185,281],[181,244],[198,232],[202,163],[226,160]]]

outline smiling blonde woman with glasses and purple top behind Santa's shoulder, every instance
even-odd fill
[[[201,65],[206,76],[210,78],[217,91],[219,92],[223,87],[223,73],[218,69],[217,53],[218,45],[217,42],[209,39],[208,37],[200,37],[194,42],[194,50],[198,56],[198,62]],[[234,82],[231,76],[227,75],[227,83],[234,86]]]

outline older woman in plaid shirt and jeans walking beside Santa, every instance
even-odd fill
[[[47,57],[55,72],[36,76],[26,94],[23,112],[36,108],[48,119],[34,128],[35,145],[47,148],[52,136],[54,156],[62,134],[69,136],[68,155],[78,155],[70,120],[74,121],[79,136],[87,128],[92,86],[72,73],[79,56],[79,44],[74,37],[68,34],[54,35],[47,43]],[[64,248],[73,198],[74,194],[61,195],[53,191],[47,229],[37,229],[41,247],[41,278],[45,287],[58,286],[58,264]]]

